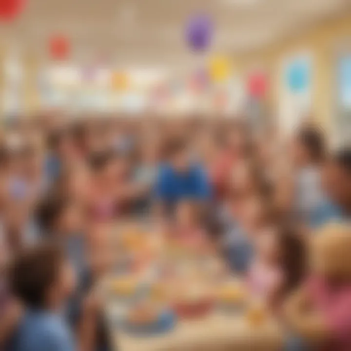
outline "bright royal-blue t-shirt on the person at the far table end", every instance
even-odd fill
[[[156,198],[169,205],[179,200],[208,200],[211,187],[200,166],[191,166],[187,172],[177,172],[171,165],[162,165],[158,171],[155,189]]]

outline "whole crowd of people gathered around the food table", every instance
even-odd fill
[[[351,350],[351,149],[312,122],[19,118],[0,135],[0,350],[110,350],[96,290],[107,233],[153,218],[211,245],[289,331]]]

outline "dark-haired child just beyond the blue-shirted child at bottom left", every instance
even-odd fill
[[[78,332],[80,347],[91,350],[93,345],[105,345],[107,341],[98,331],[101,311],[98,298],[92,292],[92,262],[88,257],[89,248],[79,202],[65,196],[48,197],[40,204],[37,215],[42,230],[65,248],[77,277],[76,289],[67,301],[65,312]]]

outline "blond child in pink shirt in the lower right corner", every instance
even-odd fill
[[[307,346],[299,350],[351,350],[350,252],[348,225],[329,224],[312,238],[310,277],[286,306],[288,325]]]

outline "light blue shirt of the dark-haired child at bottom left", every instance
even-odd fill
[[[64,319],[45,311],[27,311],[9,351],[75,351],[73,335]]]

